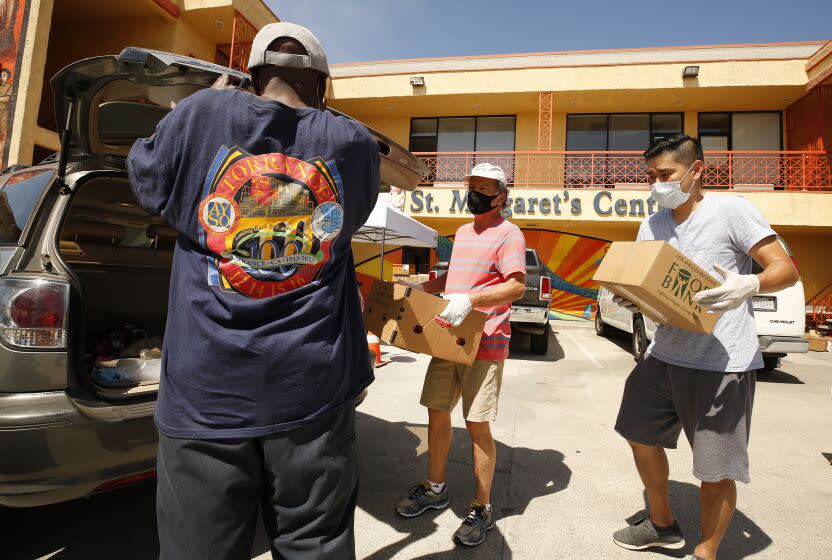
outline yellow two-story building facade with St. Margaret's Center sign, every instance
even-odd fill
[[[832,291],[832,43],[719,45],[399,60],[333,68],[331,104],[429,168],[404,210],[435,228],[435,254],[393,249],[426,272],[470,220],[462,177],[501,165],[511,219],[548,266],[552,316],[589,318],[609,243],[656,211],[642,151],[702,140],[704,184],[757,205],[795,253],[807,304]],[[358,249],[359,274],[379,262]],[[391,271],[392,266],[385,266]],[[828,303],[827,303],[828,305]]]

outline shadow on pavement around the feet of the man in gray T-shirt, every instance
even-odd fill
[[[693,549],[696,548],[696,544],[699,542],[699,487],[695,484],[671,480],[670,503],[673,507],[673,514],[679,521],[679,525],[682,526],[682,532],[685,535],[685,548],[674,551],[651,548],[650,552],[674,558],[684,558],[685,555],[693,553]],[[747,558],[765,550],[772,543],[771,537],[739,509],[740,505],[738,504],[731,525],[728,526],[725,538],[722,539],[722,544],[719,547],[720,558],[736,558],[738,560]],[[646,514],[647,493],[645,492],[644,509],[628,517],[626,522],[634,523]]]

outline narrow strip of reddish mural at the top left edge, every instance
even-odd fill
[[[17,76],[23,56],[29,4],[25,0],[0,0],[0,154],[3,168],[9,159]]]

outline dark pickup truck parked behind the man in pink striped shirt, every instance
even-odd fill
[[[447,262],[438,262],[431,270],[431,278],[448,272]],[[545,354],[549,350],[549,303],[552,300],[552,281],[534,249],[526,249],[526,293],[511,305],[512,331],[531,335],[531,351]]]

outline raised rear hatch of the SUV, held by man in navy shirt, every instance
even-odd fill
[[[225,66],[136,47],[70,64],[50,82],[55,117],[62,127],[63,168],[58,176],[64,176],[68,163],[81,160],[122,167],[133,142],[153,134],[179,101],[210,87],[222,74],[243,83],[249,79]],[[379,145],[382,185],[414,188],[427,172],[424,162],[387,136],[367,129]]]

